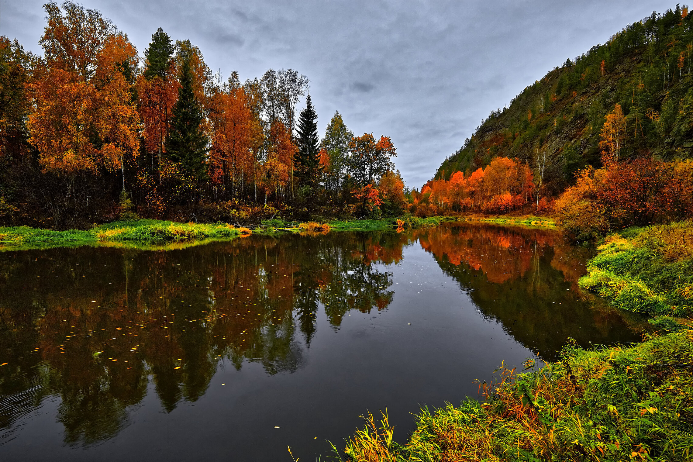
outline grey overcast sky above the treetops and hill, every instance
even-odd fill
[[[46,0],[0,0],[0,34],[35,53]],[[319,130],[339,111],[354,134],[392,137],[420,187],[489,112],[568,57],[674,3],[656,0],[82,0],[142,53],[163,28],[213,71],[310,78]]]

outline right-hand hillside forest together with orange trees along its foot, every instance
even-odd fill
[[[416,213],[550,215],[581,240],[690,217],[692,46],[677,6],[566,60],[412,191]]]

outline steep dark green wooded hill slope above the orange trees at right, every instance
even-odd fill
[[[468,176],[493,157],[534,166],[536,150],[547,150],[545,192],[556,195],[576,170],[600,166],[600,131],[616,105],[625,116],[621,159],[692,157],[692,44],[687,8],[653,12],[553,69],[509,107],[492,111],[435,179],[450,179],[458,170]]]

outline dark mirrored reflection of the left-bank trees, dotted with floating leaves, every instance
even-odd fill
[[[319,305],[335,328],[349,310],[387,308],[392,274],[371,262],[401,260],[405,242],[331,233],[2,254],[0,428],[55,395],[65,442],[89,445],[119,432],[150,377],[172,411],[204,395],[220,361],[295,371]]]

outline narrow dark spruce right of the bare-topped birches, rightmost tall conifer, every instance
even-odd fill
[[[306,98],[305,109],[299,115],[296,132],[299,152],[294,156],[295,175],[301,184],[315,188],[315,184],[322,174],[323,166],[320,165],[317,114],[315,114],[313,104],[310,103],[310,95]]]

